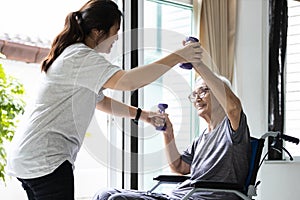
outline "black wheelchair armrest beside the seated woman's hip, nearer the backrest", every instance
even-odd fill
[[[237,190],[240,192],[244,190],[243,186],[237,183],[213,182],[213,181],[205,181],[205,180],[194,180],[191,182],[191,186],[195,188]]]

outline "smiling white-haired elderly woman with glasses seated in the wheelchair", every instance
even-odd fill
[[[204,63],[194,65],[200,75],[189,95],[206,129],[180,154],[175,144],[173,126],[166,115],[163,132],[165,150],[171,170],[191,178],[171,194],[147,194],[132,190],[107,190],[95,199],[181,199],[191,190],[193,180],[207,180],[244,185],[250,160],[250,133],[239,98],[232,92],[229,81],[213,73]],[[192,195],[197,200],[234,200],[235,194],[201,191]]]

